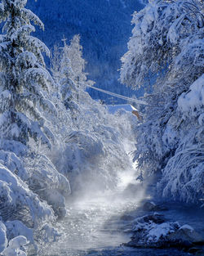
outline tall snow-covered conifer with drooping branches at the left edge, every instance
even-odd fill
[[[43,29],[41,20],[24,8],[27,1],[2,1],[0,19],[6,20],[0,38],[1,55],[1,135],[4,139],[26,144],[29,137],[41,139],[51,146],[51,131],[43,127],[41,109],[55,111],[46,97],[52,83],[45,70],[42,52],[49,50],[30,35],[35,29],[30,21]]]

